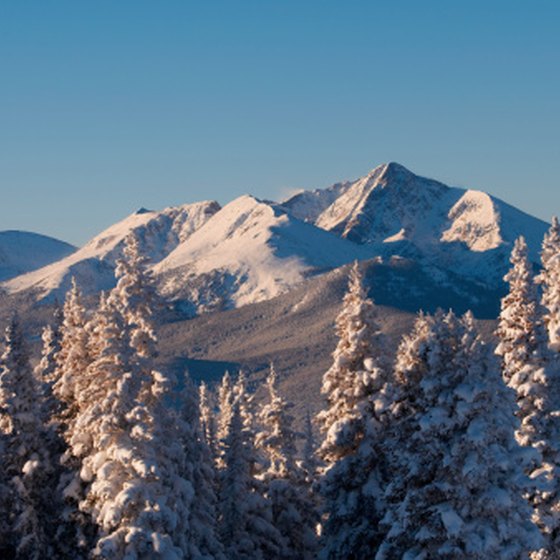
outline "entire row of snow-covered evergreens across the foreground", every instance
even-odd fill
[[[272,366],[260,406],[242,373],[215,394],[155,368],[158,296],[129,237],[96,309],[72,286],[35,371],[6,329],[0,557],[556,558],[556,219],[541,255],[535,277],[515,244],[497,347],[440,311],[396,356],[356,264],[325,408],[299,433]]]

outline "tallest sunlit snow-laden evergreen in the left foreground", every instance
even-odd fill
[[[91,322],[92,362],[77,382],[70,440],[86,485],[80,509],[98,527],[93,556],[220,558],[196,393],[187,384],[190,401],[178,412],[174,379],[154,368],[152,286],[134,238],[117,275]]]

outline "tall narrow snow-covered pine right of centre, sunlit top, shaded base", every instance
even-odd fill
[[[381,538],[384,465],[378,452],[388,405],[388,376],[376,309],[367,297],[358,263],[336,320],[338,345],[323,377],[328,406],[318,415],[324,433],[319,481],[324,559],[365,558]]]

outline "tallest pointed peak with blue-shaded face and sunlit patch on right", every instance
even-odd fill
[[[285,205],[299,211],[294,198]],[[351,183],[315,224],[373,253],[412,256],[484,283],[501,279],[519,235],[537,262],[548,227],[484,192],[448,187],[397,163]]]

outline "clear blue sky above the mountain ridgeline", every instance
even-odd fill
[[[0,2],[0,229],[398,161],[560,213],[558,0]]]

